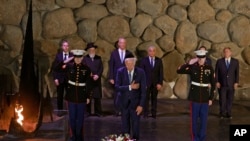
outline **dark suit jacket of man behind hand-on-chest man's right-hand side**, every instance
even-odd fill
[[[157,84],[163,83],[163,65],[162,60],[155,57],[154,67],[152,68],[150,64],[149,57],[144,57],[141,60],[140,67],[145,71],[147,79],[147,87],[151,85],[156,86]]]

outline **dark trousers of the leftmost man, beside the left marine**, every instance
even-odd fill
[[[67,82],[60,83],[57,86],[57,109],[62,110],[63,109],[63,97],[64,97],[64,91],[67,88]]]

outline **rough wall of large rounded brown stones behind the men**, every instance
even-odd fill
[[[18,84],[20,58],[29,0],[0,0],[0,68],[12,71]],[[104,63],[103,92],[108,60],[119,37],[140,59],[149,45],[157,47],[164,65],[164,87],[159,98],[186,98],[187,79],[176,69],[204,45],[213,64],[225,46],[240,61],[240,88],[236,99],[250,99],[250,1],[249,0],[33,0],[35,58],[42,85],[55,95],[50,67],[67,39],[71,49],[95,42]],[[1,70],[1,69],[0,69]],[[18,90],[18,85],[16,86]]]

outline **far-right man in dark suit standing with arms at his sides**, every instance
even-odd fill
[[[215,66],[216,87],[219,90],[220,117],[232,118],[234,90],[239,83],[239,62],[231,57],[229,47],[223,49],[224,57]]]

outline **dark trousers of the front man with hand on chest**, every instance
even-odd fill
[[[131,103],[127,107],[122,107],[122,133],[128,133],[133,139],[139,140],[140,115],[136,114],[136,107]]]

